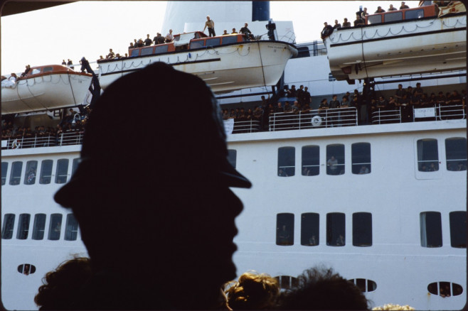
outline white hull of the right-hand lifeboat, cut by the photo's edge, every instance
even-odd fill
[[[467,16],[452,16],[341,28],[324,43],[338,80],[463,70],[466,26]]]

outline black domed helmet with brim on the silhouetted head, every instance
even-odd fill
[[[55,202],[70,207],[87,190],[122,183],[122,176],[165,187],[251,187],[229,163],[225,139],[206,83],[156,62],[119,78],[97,100],[80,165]]]

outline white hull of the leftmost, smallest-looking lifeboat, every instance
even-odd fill
[[[1,114],[53,110],[81,104],[92,77],[80,73],[56,73],[18,80],[1,88]]]

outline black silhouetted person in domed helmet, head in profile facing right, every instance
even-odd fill
[[[122,113],[129,103],[134,113]],[[186,112],[176,125],[173,107]],[[218,306],[221,285],[236,275],[243,209],[229,187],[251,186],[227,156],[219,107],[200,78],[156,62],[107,87],[87,121],[83,160],[55,194],[78,219],[95,271],[73,307]]]

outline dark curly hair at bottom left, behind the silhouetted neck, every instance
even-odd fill
[[[34,302],[39,310],[70,310],[75,295],[91,278],[90,258],[75,257],[46,273]]]

